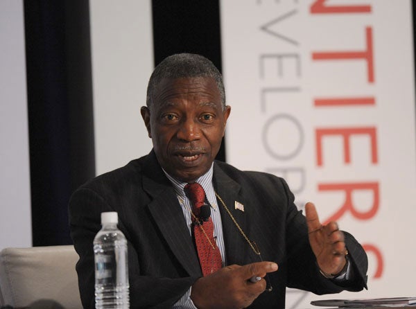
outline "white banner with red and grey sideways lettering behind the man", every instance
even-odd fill
[[[223,0],[221,29],[227,161],[284,177],[365,247],[369,290],[336,298],[415,296],[411,1]]]

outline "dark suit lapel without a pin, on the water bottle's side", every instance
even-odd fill
[[[153,199],[148,209],[177,261],[189,276],[202,276],[198,255],[175,191],[153,152],[144,166],[143,187]]]

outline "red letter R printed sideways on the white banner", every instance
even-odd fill
[[[371,190],[373,193],[373,204],[369,211],[358,211],[352,204],[352,193],[356,190]],[[372,218],[379,209],[379,183],[378,182],[356,182],[344,184],[319,184],[318,191],[344,191],[345,202],[336,213],[328,218],[324,224],[336,221],[341,218],[346,211],[351,211],[352,215],[358,220],[368,220]]]

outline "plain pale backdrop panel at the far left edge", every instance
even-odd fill
[[[31,247],[23,1],[0,1],[0,250]]]

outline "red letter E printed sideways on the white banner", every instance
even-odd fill
[[[372,163],[377,163],[377,143],[376,143],[376,128],[375,127],[349,127],[349,128],[334,128],[334,129],[316,129],[316,155],[318,166],[322,166],[322,138],[325,135],[341,135],[344,140],[344,160],[349,163],[349,137],[354,134],[367,134],[371,139],[371,158]]]

